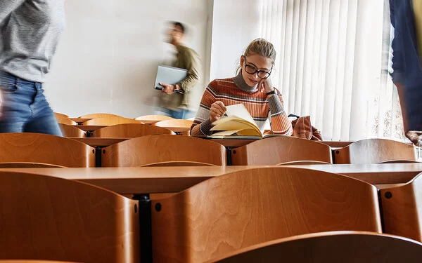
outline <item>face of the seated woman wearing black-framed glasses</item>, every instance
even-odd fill
[[[257,83],[261,81],[262,78],[260,76],[265,75],[264,72],[271,72],[272,63],[270,58],[265,58],[262,55],[248,55],[248,56],[241,56],[241,67],[242,67],[242,76],[248,86],[255,86]],[[245,67],[247,67],[245,69]],[[254,70],[255,69],[255,70]],[[260,72],[260,76],[258,76],[258,72],[255,74],[250,74],[248,72],[254,71],[264,71]]]

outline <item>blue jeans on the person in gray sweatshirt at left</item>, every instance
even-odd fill
[[[0,72],[0,133],[63,136],[41,83]]]

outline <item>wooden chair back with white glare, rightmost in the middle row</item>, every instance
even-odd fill
[[[390,160],[416,161],[412,145],[394,140],[366,139],[334,151],[335,163],[381,163]]]

